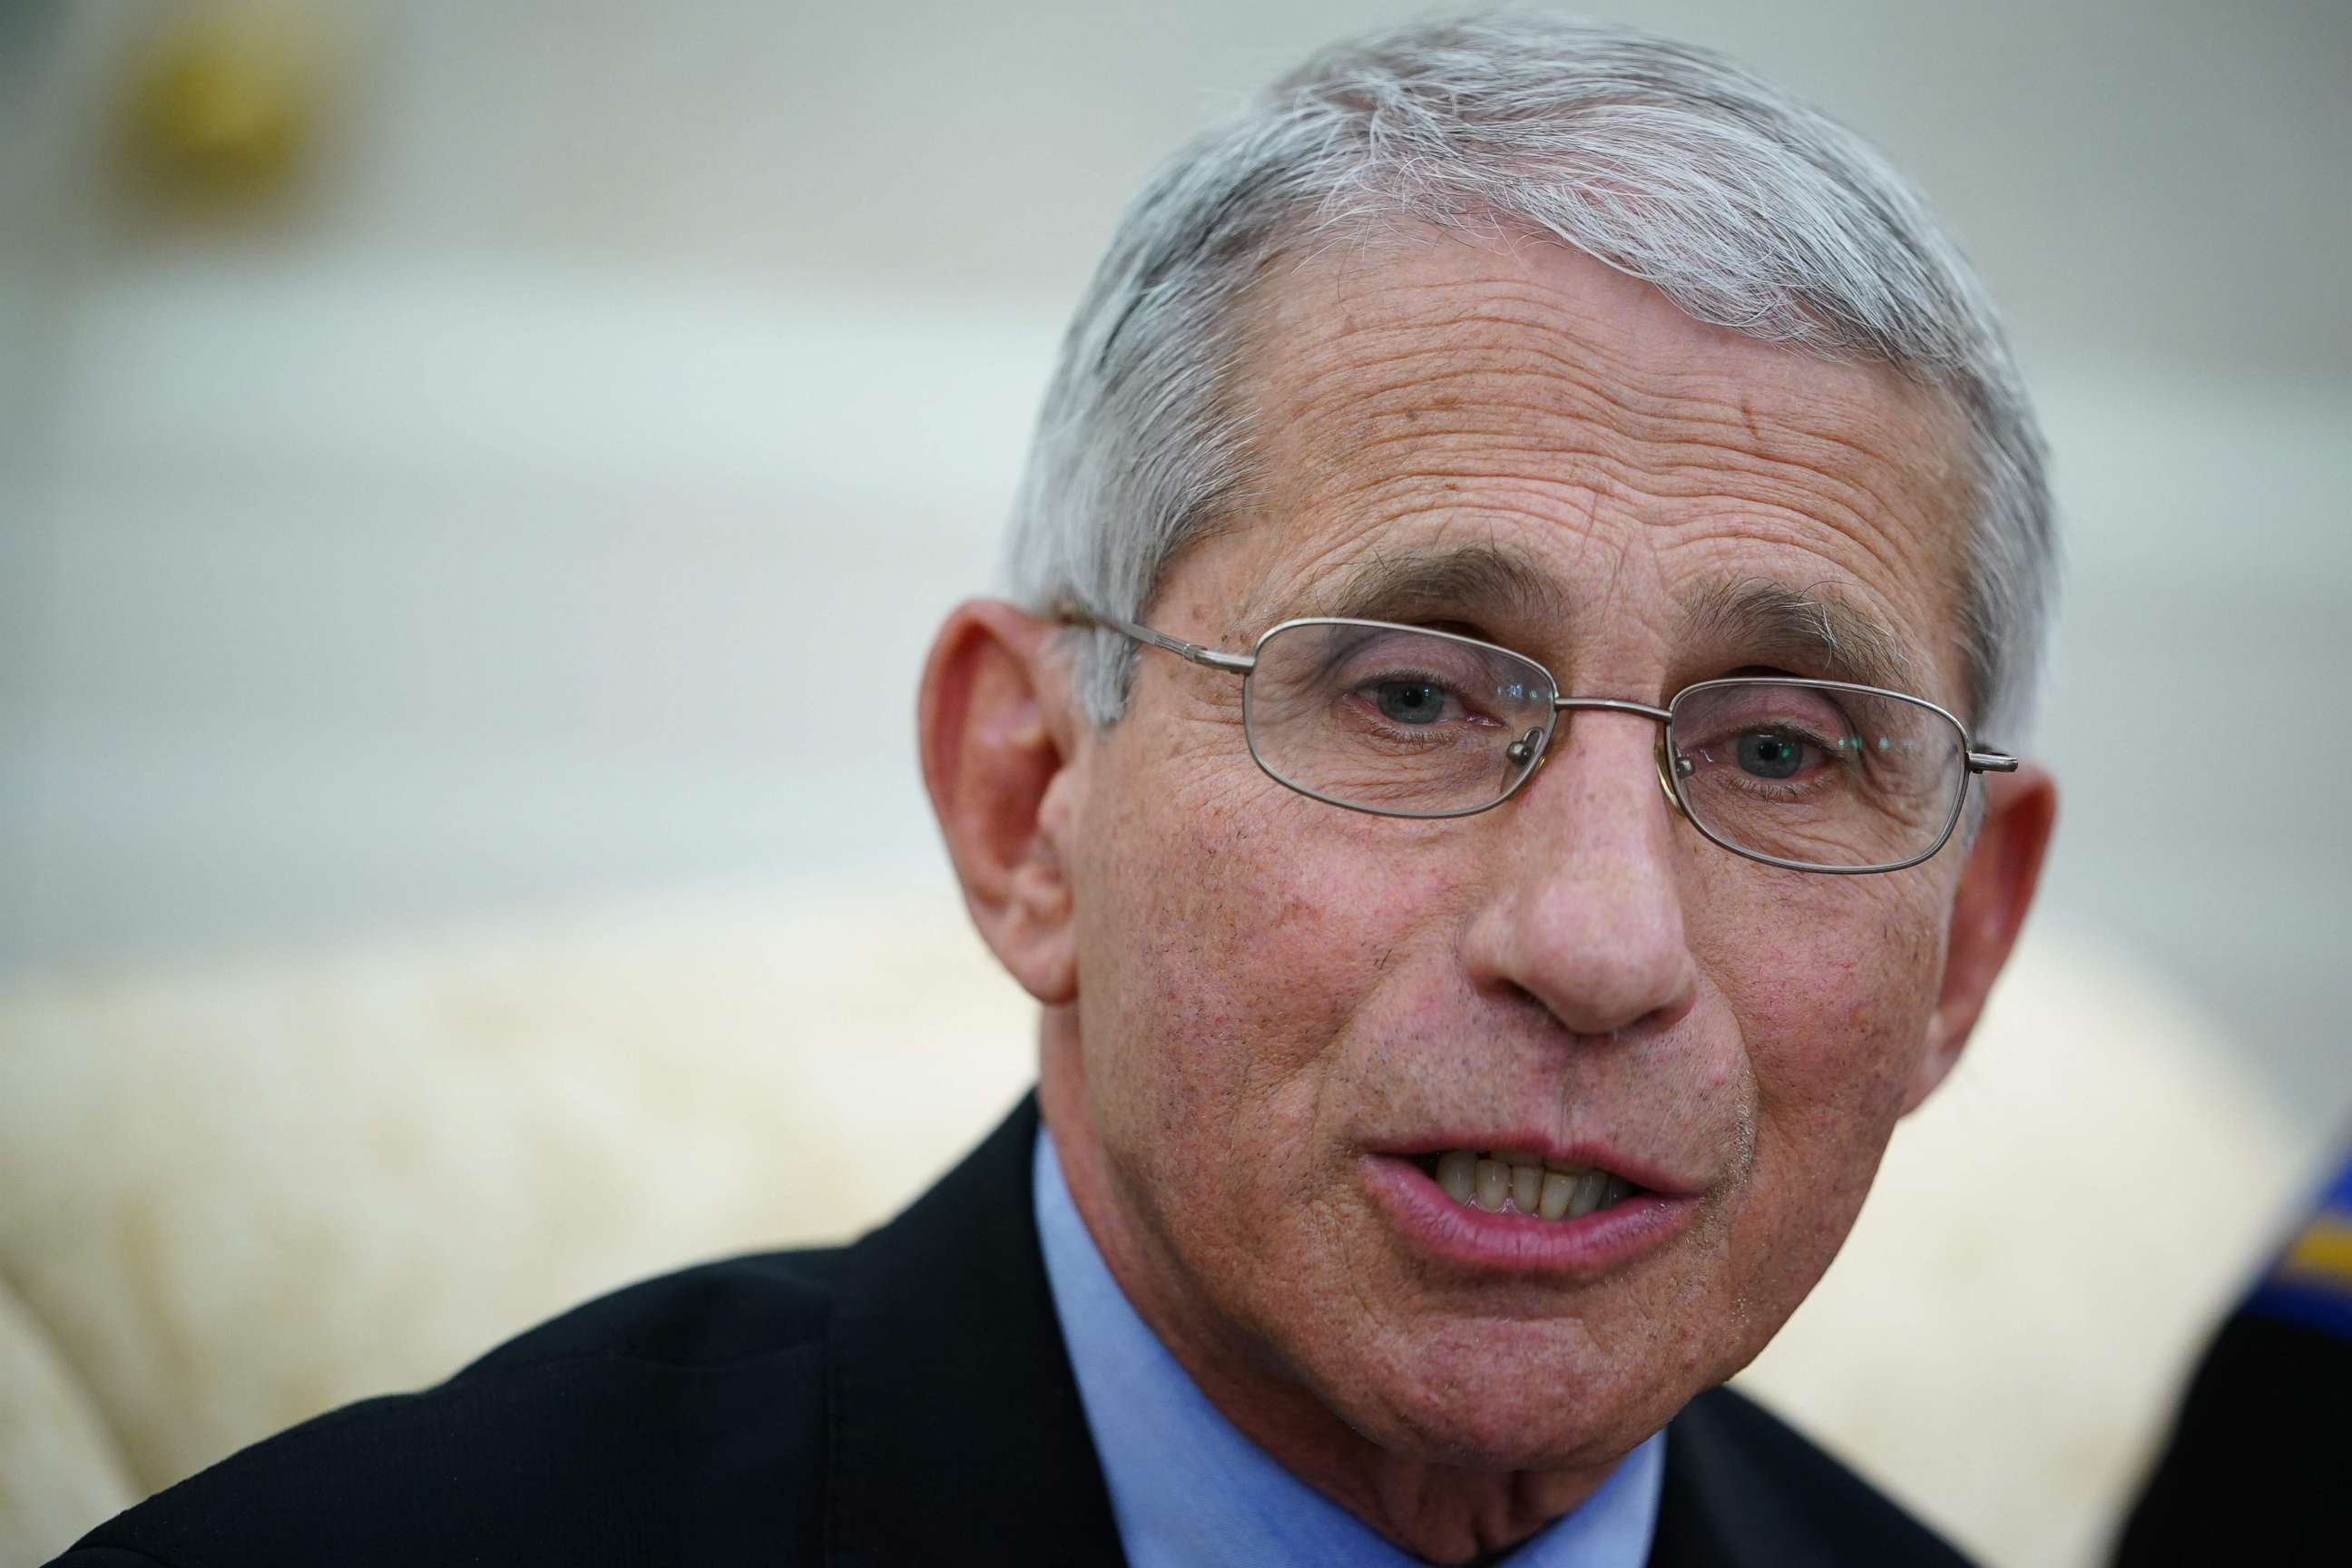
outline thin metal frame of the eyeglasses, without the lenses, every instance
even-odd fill
[[[1613,698],[1613,696],[1559,696],[1559,679],[1550,672],[1550,668],[1545,668],[1536,658],[1529,658],[1526,654],[1519,654],[1517,649],[1505,649],[1501,642],[1486,642],[1484,637],[1465,637],[1461,632],[1442,632],[1442,630],[1437,630],[1432,625],[1406,625],[1402,621],[1362,621],[1357,616],[1296,616],[1291,621],[1279,621],[1279,623],[1265,628],[1263,632],[1258,632],[1256,642],[1249,644],[1249,654],[1223,654],[1218,649],[1209,649],[1209,646],[1202,646],[1197,642],[1185,642],[1183,637],[1169,637],[1167,632],[1160,632],[1160,630],[1155,630],[1150,625],[1141,625],[1136,621],[1122,621],[1117,616],[1096,616],[1096,614],[1089,614],[1089,611],[1068,611],[1068,614],[1061,616],[1061,623],[1063,625],[1091,625],[1091,628],[1120,632],[1120,635],[1124,635],[1124,637],[1129,637],[1129,639],[1134,639],[1134,642],[1138,642],[1143,646],[1152,646],[1152,649],[1160,649],[1164,654],[1174,654],[1176,658],[1183,658],[1188,663],[1202,665],[1204,670],[1223,670],[1225,675],[1240,675],[1242,682],[1244,682],[1242,743],[1249,748],[1249,759],[1258,764],[1258,771],[1265,773],[1268,778],[1272,778],[1284,790],[1294,790],[1298,795],[1305,795],[1308,799],[1319,799],[1327,806],[1338,806],[1341,811],[1362,811],[1367,816],[1390,816],[1390,818],[1406,818],[1406,820],[1446,820],[1446,818],[1479,816],[1482,811],[1494,811],[1496,806],[1501,806],[1503,802],[1508,802],[1512,795],[1517,795],[1522,788],[1526,788],[1526,780],[1531,780],[1543,769],[1543,762],[1552,755],[1552,733],[1559,729],[1559,715],[1562,712],[1595,712],[1595,710],[1597,712],[1630,712],[1630,715],[1637,715],[1637,717],[1644,717],[1644,719],[1651,719],[1651,722],[1658,724],[1658,748],[1656,748],[1658,788],[1665,790],[1665,799],[1675,809],[1675,816],[1679,816],[1693,830],[1698,830],[1698,837],[1708,839],[1717,849],[1726,849],[1726,851],[1740,856],[1743,860],[1759,860],[1762,865],[1778,865],[1778,867],[1792,870],[1792,872],[1813,872],[1818,877],[1875,877],[1879,872],[1910,870],[1912,865],[1919,865],[1922,860],[1933,860],[1938,853],[1943,853],[1943,846],[1952,842],[1952,830],[1959,827],[1959,818],[1962,818],[1962,813],[1969,806],[1969,780],[1973,780],[1978,773],[2016,773],[2018,771],[2018,762],[2020,762],[2018,757],[2011,757],[2009,752],[1978,750],[1976,748],[1976,738],[1969,733],[1969,726],[1950,708],[1943,708],[1940,703],[1931,703],[1924,696],[1912,696],[1910,691],[1893,691],[1889,686],[1865,686],[1860,682],[1811,679],[1811,677],[1802,677],[1802,675],[1724,675],[1724,677],[1715,677],[1715,679],[1691,682],[1689,686],[1682,686],[1670,698],[1665,698],[1665,708],[1656,708],[1651,703],[1632,703],[1628,698]],[[1552,724],[1548,724],[1543,731],[1538,731],[1543,736],[1543,743],[1541,743],[1541,748],[1536,750],[1534,757],[1524,759],[1524,771],[1515,780],[1510,780],[1508,790],[1503,790],[1501,795],[1496,795],[1484,806],[1463,806],[1461,811],[1388,811],[1383,806],[1359,806],[1357,802],[1338,799],[1334,795],[1322,795],[1319,790],[1308,790],[1305,785],[1294,783],[1294,780],[1284,778],[1282,773],[1277,773],[1265,762],[1265,757],[1258,755],[1258,736],[1254,733],[1254,726],[1249,724],[1249,703],[1247,703],[1247,682],[1249,682],[1249,677],[1258,668],[1258,649],[1263,649],[1279,632],[1287,632],[1287,630],[1294,630],[1294,628],[1301,628],[1301,625],[1364,625],[1364,628],[1388,630],[1388,632],[1416,632],[1421,637],[1444,637],[1446,642],[1461,642],[1461,644],[1472,646],[1472,649],[1486,649],[1491,654],[1503,654],[1508,658],[1517,658],[1519,663],[1531,665],[1538,672],[1543,672],[1545,684],[1550,684],[1550,689],[1552,689]],[[1912,703],[1915,708],[1926,708],[1929,712],[1938,715],[1955,731],[1959,731],[1959,755],[1962,755],[1962,764],[1964,764],[1959,790],[1952,792],[1952,811],[1943,820],[1943,832],[1938,832],[1936,842],[1929,844],[1926,849],[1922,849],[1917,856],[1910,856],[1907,860],[1889,860],[1886,865],[1809,865],[1804,860],[1788,860],[1788,858],[1780,858],[1780,856],[1766,856],[1766,853],[1762,853],[1757,849],[1743,849],[1743,846],[1733,844],[1731,839],[1722,837],[1719,832],[1715,832],[1712,827],[1708,827],[1698,818],[1698,813],[1691,811],[1691,802],[1686,802],[1682,797],[1682,771],[1677,766],[1670,766],[1670,762],[1668,762],[1668,743],[1665,743],[1665,738],[1672,733],[1672,724],[1675,724],[1675,703],[1679,703],[1682,698],[1686,698],[1693,691],[1712,691],[1712,689],[1722,689],[1722,686],[1806,686],[1806,689],[1813,689],[1813,691],[1856,691],[1856,693],[1863,693],[1863,696],[1896,698],[1898,703]],[[1510,750],[1517,750],[1522,745],[1526,745],[1524,736],[1519,741],[1515,741]],[[1519,762],[1519,759],[1512,757],[1512,762]],[[1677,755],[1675,762],[1686,762],[1686,757]]]

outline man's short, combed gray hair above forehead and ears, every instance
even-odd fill
[[[1282,256],[1399,219],[1538,230],[1686,315],[1823,360],[1884,362],[1966,428],[1962,583],[1973,729],[2020,729],[2056,576],[2044,447],[1992,303],[1860,136],[1731,61],[1564,16],[1343,42],[1145,183],[1061,346],[1014,510],[1011,592],[1138,618],[1178,550],[1247,498],[1237,360]],[[1096,724],[1136,649],[1082,637]]]

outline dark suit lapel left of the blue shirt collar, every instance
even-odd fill
[[[1030,1206],[1037,1100],[858,1241],[830,1328],[835,1568],[1120,1563]]]

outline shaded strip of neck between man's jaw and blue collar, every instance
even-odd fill
[[[1037,1098],[1070,1201],[1129,1305],[1242,1436],[1385,1540],[1432,1563],[1498,1556],[1609,1479],[1613,1462],[1494,1472],[1383,1448],[1263,1347],[1242,1342],[1230,1326],[1176,1309],[1185,1295],[1143,1244],[1143,1227],[1127,1222],[1115,1201],[1110,1168],[1087,1124],[1075,1039],[1056,1051],[1054,1023],[1049,1011]]]

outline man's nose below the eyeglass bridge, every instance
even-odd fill
[[[1571,1034],[1670,1027],[1698,969],[1656,726],[1606,710],[1559,724],[1543,771],[1501,806],[1512,820],[1463,964],[1482,992],[1529,997]]]

